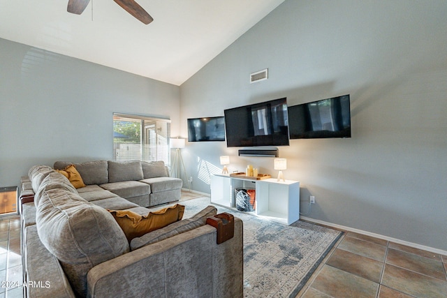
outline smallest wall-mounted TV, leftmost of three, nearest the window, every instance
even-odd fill
[[[188,119],[188,142],[212,142],[225,140],[223,117]]]

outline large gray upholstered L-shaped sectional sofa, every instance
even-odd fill
[[[78,189],[45,165],[22,178],[23,276],[31,285],[25,297],[242,297],[239,218],[234,237],[221,244],[217,229],[206,224],[217,213],[212,206],[129,242],[106,209],[146,215],[142,206],[170,201],[177,184],[147,178],[144,166],[140,179],[134,164],[122,171],[107,165],[107,181],[105,163],[76,165],[87,184]]]

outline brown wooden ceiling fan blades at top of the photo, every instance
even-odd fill
[[[124,8],[128,13],[133,15],[137,20],[140,20],[144,24],[149,24],[154,19],[146,12],[138,3],[134,0],[113,0],[119,6]],[[76,15],[80,15],[90,0],[68,0],[67,11],[68,13],[75,13]]]

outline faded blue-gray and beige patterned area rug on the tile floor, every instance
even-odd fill
[[[179,202],[189,218],[210,205],[203,197]],[[295,297],[342,232],[296,221],[283,225],[217,206],[244,223],[244,297]]]

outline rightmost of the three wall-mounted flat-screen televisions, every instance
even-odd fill
[[[291,139],[351,137],[349,94],[288,107]]]

